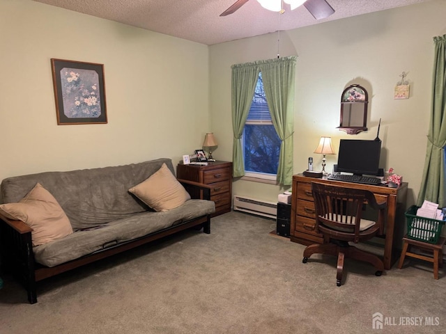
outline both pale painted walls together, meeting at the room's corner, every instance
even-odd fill
[[[433,42],[446,33],[443,0],[280,33],[281,56],[298,56],[294,170],[307,167],[320,136],[371,139],[382,118],[385,168],[417,196],[429,122]],[[207,47],[160,33],[47,6],[0,0],[0,180],[45,170],[178,161],[217,136],[215,157],[232,159],[231,65],[275,58],[277,33]],[[56,124],[50,58],[105,65],[107,125]],[[393,100],[401,72],[410,99]],[[369,131],[339,132],[349,84],[369,90]],[[328,168],[337,156],[328,156]],[[234,193],[275,201],[279,186],[237,180]]]

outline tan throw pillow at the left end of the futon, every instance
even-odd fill
[[[36,184],[20,202],[0,205],[0,212],[6,218],[23,221],[33,229],[33,246],[72,233],[70,221],[56,198],[40,184]]]

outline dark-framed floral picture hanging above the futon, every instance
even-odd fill
[[[104,65],[51,58],[57,125],[107,124]]]

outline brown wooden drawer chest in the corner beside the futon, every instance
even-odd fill
[[[215,214],[212,216],[231,211],[232,162],[208,161],[207,166],[180,163],[176,166],[176,177],[211,186],[210,200],[215,202]],[[203,198],[201,192],[195,195]]]

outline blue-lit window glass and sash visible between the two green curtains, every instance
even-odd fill
[[[243,129],[245,175],[275,180],[279,166],[280,138],[272,125],[261,72]]]

